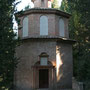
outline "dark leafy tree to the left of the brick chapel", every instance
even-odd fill
[[[15,0],[0,0],[0,90],[10,90],[13,86],[14,69],[17,59],[17,40],[13,32]]]

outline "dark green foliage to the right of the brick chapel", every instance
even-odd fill
[[[63,0],[63,3],[61,9],[72,14],[69,23],[70,38],[77,41],[73,46],[74,76],[78,81],[87,83],[86,90],[89,90],[90,0],[67,0],[67,3],[65,3],[65,0]],[[68,9],[66,7],[68,7]]]

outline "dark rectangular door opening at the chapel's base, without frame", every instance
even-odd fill
[[[49,70],[40,69],[39,70],[39,88],[49,87]]]

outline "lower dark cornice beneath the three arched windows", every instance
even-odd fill
[[[37,36],[37,37],[25,37],[21,39],[22,41],[57,41],[57,42],[64,42],[64,43],[71,43],[74,44],[76,41],[69,39],[69,38],[63,38],[60,36]]]

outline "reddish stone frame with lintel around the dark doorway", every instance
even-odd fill
[[[49,61],[48,61],[49,62]],[[39,61],[38,61],[39,63]],[[40,65],[34,65],[32,66],[33,70],[33,89],[39,89],[39,70],[40,69],[48,69],[49,70],[49,88],[53,87],[54,80],[55,80],[55,67],[51,65],[47,66],[40,66]]]

